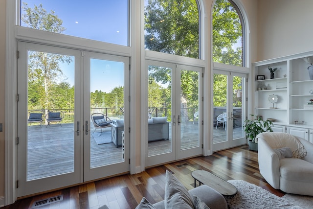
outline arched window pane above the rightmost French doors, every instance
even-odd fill
[[[216,0],[213,8],[213,62],[245,67],[243,17],[232,0]]]

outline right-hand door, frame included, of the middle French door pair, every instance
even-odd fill
[[[177,104],[179,107],[178,135],[179,149],[178,159],[199,155],[202,152],[200,146],[201,132],[201,68],[190,66],[177,66],[179,83],[177,86]]]

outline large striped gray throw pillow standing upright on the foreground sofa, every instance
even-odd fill
[[[166,170],[165,174],[165,209],[193,209],[193,200],[185,186]]]

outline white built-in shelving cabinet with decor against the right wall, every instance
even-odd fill
[[[286,126],[287,133],[313,143],[313,104],[308,104],[310,99],[313,100],[310,63],[313,63],[313,51],[253,63],[252,114],[262,116],[264,120],[274,118],[274,126],[275,123]],[[277,68],[274,79],[270,79],[268,67]],[[274,105],[268,100],[272,94],[278,98]],[[275,132],[285,132],[279,126],[274,129]]]

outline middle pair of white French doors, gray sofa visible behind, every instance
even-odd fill
[[[200,155],[202,69],[154,61],[146,69],[145,166]]]

